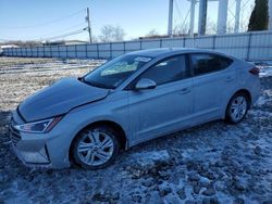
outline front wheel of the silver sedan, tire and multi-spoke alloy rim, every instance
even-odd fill
[[[108,126],[82,130],[72,144],[72,156],[84,169],[100,169],[112,164],[118,157],[120,144],[116,132]]]

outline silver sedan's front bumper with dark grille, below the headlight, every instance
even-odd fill
[[[12,149],[24,165],[29,167],[64,168],[70,166],[70,140],[60,130],[49,133],[27,133],[14,128],[24,123],[16,112],[13,112],[10,124]]]

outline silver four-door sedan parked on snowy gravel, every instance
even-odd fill
[[[109,61],[35,93],[10,137],[26,165],[97,169],[120,150],[214,119],[237,124],[259,95],[259,69],[214,51],[153,49]]]

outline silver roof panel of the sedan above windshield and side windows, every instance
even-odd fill
[[[135,52],[129,52],[128,54],[137,54],[137,55],[143,55],[143,56],[158,58],[158,56],[163,56],[163,55],[194,53],[194,52],[214,53],[214,54],[225,55],[221,52],[217,52],[213,50],[197,49],[197,48],[156,48],[156,49],[148,49],[148,50],[139,50],[139,51],[135,51]]]

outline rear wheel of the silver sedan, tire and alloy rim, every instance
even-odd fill
[[[227,104],[225,120],[228,124],[240,123],[247,115],[249,106],[250,103],[247,94],[245,94],[244,92],[235,93]]]

